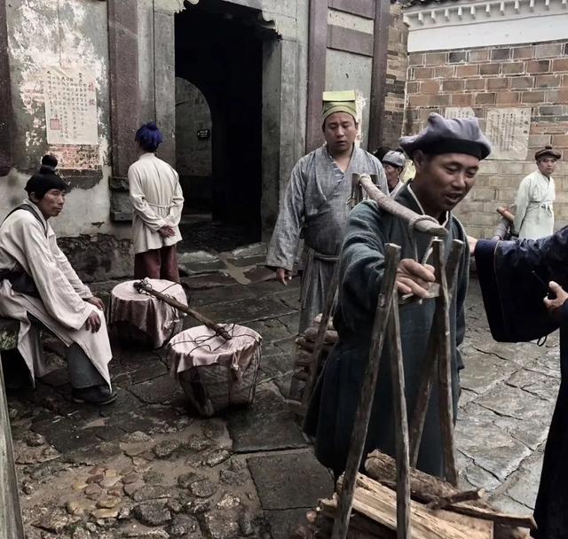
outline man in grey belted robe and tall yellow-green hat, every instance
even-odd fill
[[[355,145],[358,128],[355,92],[325,92],[326,144],[296,163],[280,202],[266,265],[286,285],[300,237],[304,238],[300,332],[323,310],[350,212],[351,175],[375,175],[379,188],[388,193],[379,160]]]

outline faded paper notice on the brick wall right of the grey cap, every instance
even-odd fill
[[[489,159],[525,160],[530,129],[530,108],[487,110],[485,136],[493,145]]]

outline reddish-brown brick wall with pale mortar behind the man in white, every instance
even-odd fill
[[[535,169],[535,150],[547,144],[563,152],[554,175],[556,228],[568,223],[568,42],[418,52],[408,62],[406,133],[422,129],[431,112],[444,114],[446,106],[471,106],[482,128],[490,108],[532,108],[527,159],[483,161],[458,208],[469,233],[492,235],[495,208],[515,199],[521,179]]]

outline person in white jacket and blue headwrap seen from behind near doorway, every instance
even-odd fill
[[[138,129],[135,139],[140,155],[128,170],[134,277],[178,283],[176,244],[181,240],[178,225],[184,207],[179,176],[155,155],[163,139],[154,121]]]

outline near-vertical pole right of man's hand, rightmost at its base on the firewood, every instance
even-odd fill
[[[435,239],[432,242],[434,265],[438,269],[440,279],[440,295],[437,303],[443,316],[435,320],[433,329],[439,336],[438,350],[438,411],[442,433],[442,450],[444,451],[444,469],[446,480],[453,485],[458,484],[458,472],[455,465],[454,444],[454,397],[452,394],[452,344],[450,331],[450,297],[446,280],[446,261],[444,259],[444,242]]]

